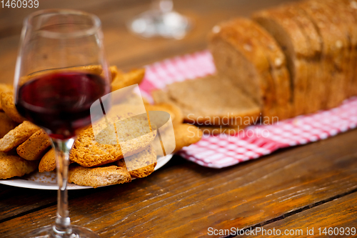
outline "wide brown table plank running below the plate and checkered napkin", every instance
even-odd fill
[[[206,237],[208,227],[252,227],[357,189],[356,138],[355,129],[226,169],[176,164],[71,199],[71,219],[101,237]],[[3,222],[0,234],[21,237],[51,224],[55,209]]]

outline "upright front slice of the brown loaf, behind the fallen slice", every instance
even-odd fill
[[[251,36],[242,34],[239,24],[246,21],[250,20],[238,18],[214,26],[209,36],[209,48],[218,75],[241,88],[261,107],[264,116],[272,118],[278,114],[271,64],[266,50]]]

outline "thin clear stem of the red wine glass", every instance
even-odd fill
[[[69,170],[69,151],[74,144],[74,139],[52,139],[56,150],[57,182],[57,217],[54,224],[56,237],[66,237],[71,234],[71,220],[69,219],[67,179]]]

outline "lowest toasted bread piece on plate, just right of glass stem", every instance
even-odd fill
[[[81,186],[99,187],[131,182],[131,176],[124,167],[116,165],[96,168],[85,168],[78,164],[69,167],[69,183]]]

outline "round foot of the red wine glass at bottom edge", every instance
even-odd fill
[[[54,226],[41,227],[26,235],[26,238],[100,238],[98,234],[86,227],[71,225],[71,234],[56,234]]]

